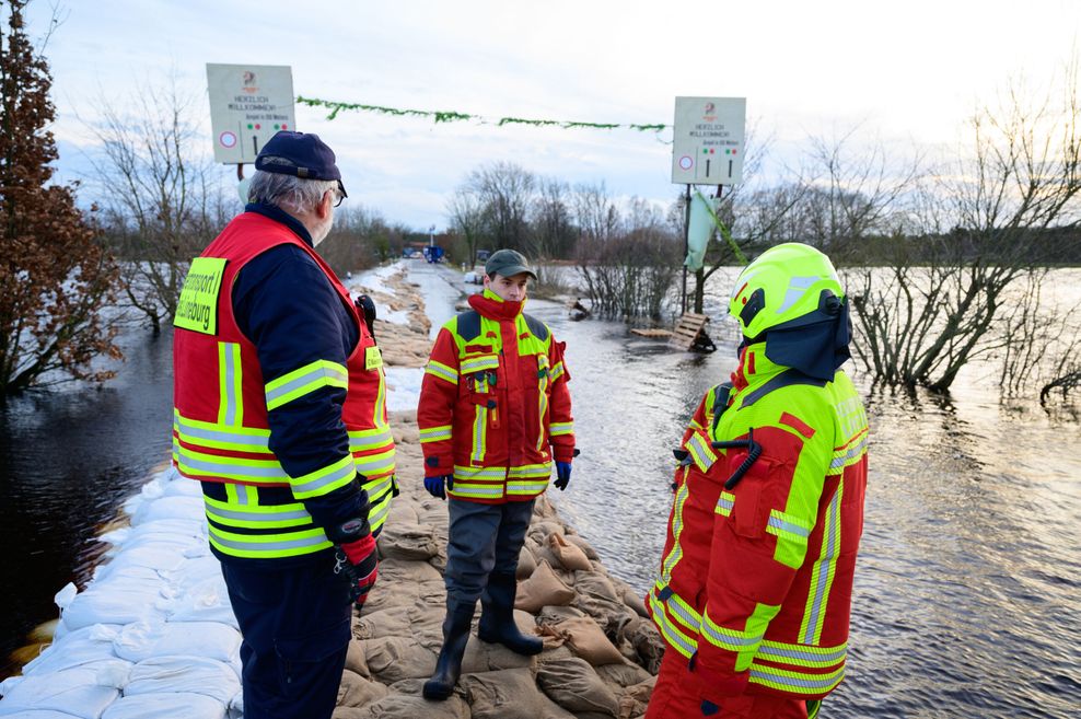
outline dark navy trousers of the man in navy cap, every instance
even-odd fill
[[[240,624],[244,719],[329,719],[349,646],[346,580],[324,553],[268,571],[222,564]]]

